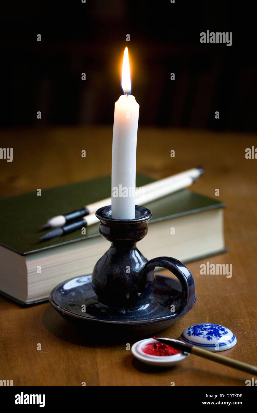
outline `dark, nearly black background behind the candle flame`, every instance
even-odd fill
[[[1,15],[1,126],[113,123],[128,46],[141,125],[256,131],[254,4],[11,2]],[[200,43],[207,29],[232,31],[232,46]]]

